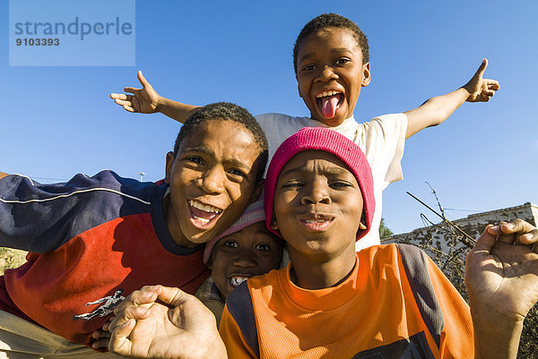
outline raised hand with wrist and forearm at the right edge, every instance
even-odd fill
[[[465,261],[477,358],[516,358],[538,302],[538,229],[516,219],[488,226]]]

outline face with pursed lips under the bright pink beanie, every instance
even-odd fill
[[[307,150],[282,167],[272,227],[280,230],[291,255],[329,261],[355,252],[361,214],[359,184],[340,158]]]

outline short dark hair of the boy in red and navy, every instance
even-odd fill
[[[260,149],[260,156],[257,160],[260,163],[260,167],[256,174],[256,183],[259,182],[264,176],[265,166],[267,165],[267,158],[269,156],[269,145],[267,144],[265,132],[257,123],[256,118],[254,118],[254,116],[245,108],[231,104],[230,102],[216,102],[214,104],[196,108],[195,112],[188,116],[185,124],[183,124],[181,130],[179,130],[174,145],[174,156],[178,155],[179,145],[181,145],[183,139],[212,120],[232,121],[242,124],[250,133],[252,133],[254,141],[256,141],[256,144]]]

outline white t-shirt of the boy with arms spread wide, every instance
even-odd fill
[[[256,115],[269,142],[269,160],[282,141],[303,127],[328,127],[308,117],[293,117],[282,114]],[[353,117],[336,127],[329,127],[357,143],[369,161],[374,178],[376,210],[368,235],[355,244],[357,251],[370,245],[380,244],[379,224],[383,208],[382,192],[388,184],[403,178],[400,161],[404,156],[407,116],[405,114],[381,115],[371,121],[358,124]]]

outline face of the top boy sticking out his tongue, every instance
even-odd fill
[[[353,115],[370,73],[351,30],[328,28],[309,35],[299,46],[297,64],[299,96],[312,118],[337,126]]]

